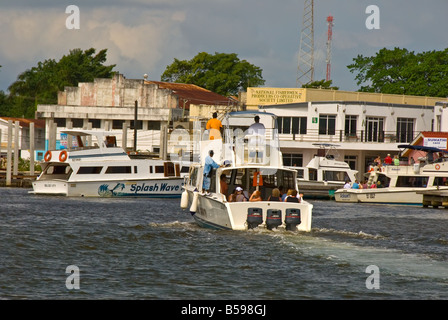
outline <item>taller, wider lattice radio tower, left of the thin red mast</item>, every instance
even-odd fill
[[[305,0],[297,67],[297,86],[314,81],[314,0]]]

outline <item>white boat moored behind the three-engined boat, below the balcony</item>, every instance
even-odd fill
[[[338,145],[313,143],[319,146],[318,154],[305,167],[290,167],[297,171],[300,192],[305,198],[333,198],[335,190],[348,181],[355,182],[357,170],[339,161],[331,152]]]

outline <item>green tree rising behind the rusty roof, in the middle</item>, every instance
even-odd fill
[[[237,95],[239,90],[265,82],[259,67],[240,60],[235,53],[218,52],[200,52],[189,61],[174,59],[161,81],[195,84],[223,96]]]

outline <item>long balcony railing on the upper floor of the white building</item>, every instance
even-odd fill
[[[334,134],[320,134],[319,130],[307,130],[306,134],[279,135],[281,141],[293,140],[303,142],[363,142],[363,143],[410,143],[418,135],[418,132],[396,131],[366,131],[358,130],[346,133],[345,130],[336,130]]]

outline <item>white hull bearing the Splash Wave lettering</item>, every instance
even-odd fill
[[[183,178],[144,180],[61,181],[36,180],[34,194],[68,197],[180,198]]]

